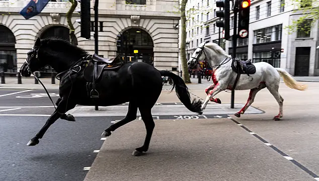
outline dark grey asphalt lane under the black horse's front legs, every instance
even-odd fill
[[[57,90],[49,92],[54,95]],[[11,115],[0,115],[0,180],[83,180],[88,172],[85,167],[90,167],[97,155],[94,150],[99,150],[104,141],[101,133],[114,118],[76,117],[76,122],[58,119],[38,145],[27,146],[48,117],[17,114],[50,115],[54,111],[48,97],[34,97],[39,93],[45,91],[0,90],[0,114]],[[52,99],[56,101],[57,97]],[[33,108],[24,108],[30,106]]]

